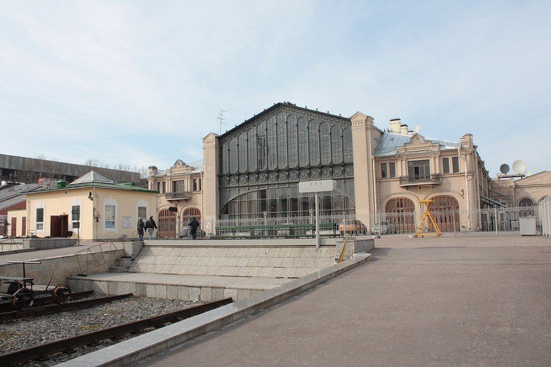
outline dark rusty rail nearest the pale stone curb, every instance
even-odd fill
[[[144,331],[147,328],[162,327],[165,326],[165,324],[178,322],[182,319],[187,319],[188,317],[214,310],[215,308],[224,306],[225,304],[229,304],[231,302],[231,298],[225,298],[224,300],[185,308],[183,310],[167,313],[165,315],[149,317],[147,319],[129,322],[127,324],[114,326],[112,328],[105,328],[92,333],[85,333],[77,335],[76,337],[69,337],[56,340],[51,343],[40,344],[39,346],[17,350],[16,352],[0,355],[0,366],[12,366],[14,364],[32,361],[34,359],[46,360],[49,355],[65,351],[67,353],[73,353],[76,348],[80,348],[81,346],[85,346],[87,344],[97,345],[105,339],[122,337],[123,335],[129,333]]]

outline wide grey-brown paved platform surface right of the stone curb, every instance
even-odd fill
[[[551,240],[455,241],[377,240],[355,271],[139,365],[550,366]]]

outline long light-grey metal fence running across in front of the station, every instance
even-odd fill
[[[542,205],[545,207],[545,220],[539,215]],[[549,218],[551,202],[542,202],[536,207],[503,207],[475,210],[450,210],[430,211],[443,232],[517,232],[519,231],[519,218],[536,217],[537,229],[541,232],[545,227],[546,233],[551,230]],[[402,213],[371,213],[356,216],[320,216],[320,223],[337,224],[342,235],[395,235],[413,234],[417,231],[422,213],[417,211]],[[203,223],[207,233],[214,233],[220,227],[250,227],[250,226],[282,226],[286,224],[313,224],[314,216],[280,217],[280,218],[240,218],[222,219]],[[426,224],[423,231],[433,231],[432,224]],[[282,231],[284,235],[284,231]],[[229,235],[229,231],[216,231],[217,235]],[[323,234],[323,233],[322,233]],[[245,235],[245,233],[242,233]]]

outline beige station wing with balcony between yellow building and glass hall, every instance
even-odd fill
[[[156,208],[160,237],[175,238],[192,217],[202,220],[202,160],[187,165],[178,159],[166,170],[151,166],[148,183],[149,189],[158,191]]]

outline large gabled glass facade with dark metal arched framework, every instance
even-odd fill
[[[333,179],[323,215],[353,214],[351,122],[280,103],[220,136],[221,218],[308,216],[313,197],[303,180]]]

